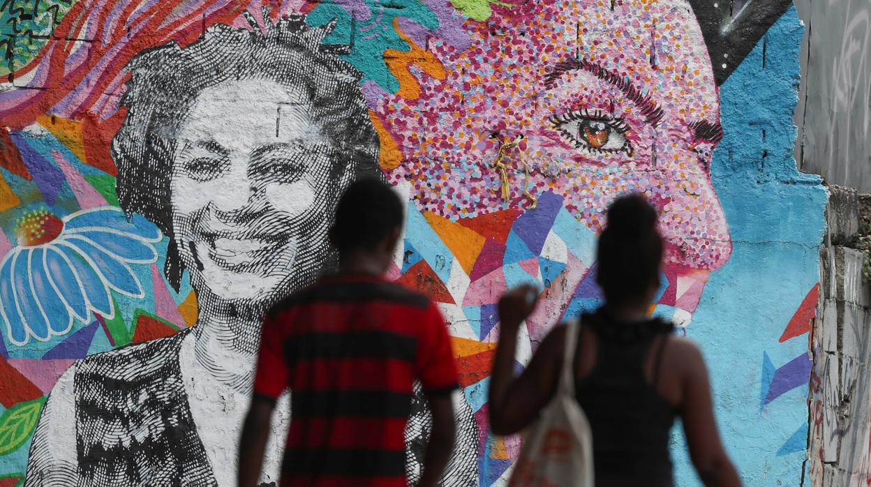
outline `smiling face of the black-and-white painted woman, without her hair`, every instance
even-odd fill
[[[311,249],[327,247],[331,163],[310,113],[301,90],[263,79],[208,88],[188,112],[172,223],[198,290],[270,299],[310,264]]]

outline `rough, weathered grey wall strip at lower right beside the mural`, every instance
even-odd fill
[[[871,287],[862,275],[868,255],[851,247],[860,230],[868,231],[871,200],[851,188],[832,186],[831,192],[826,245],[820,254],[822,311],[813,334],[810,417],[814,428],[809,436],[807,484],[858,485],[871,476]]]

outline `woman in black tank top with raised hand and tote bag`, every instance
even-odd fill
[[[668,443],[677,416],[705,485],[741,485],[719,440],[699,348],[649,317],[662,256],[652,206],[640,195],[616,200],[598,242],[604,305],[552,329],[519,376],[517,330],[535,310],[537,290],[517,287],[499,302],[490,427],[510,435],[535,423],[510,485],[672,487]],[[571,376],[561,380],[566,362]],[[573,452],[573,463],[554,451]]]

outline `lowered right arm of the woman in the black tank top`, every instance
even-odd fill
[[[705,360],[692,342],[675,340],[679,344],[684,371],[683,403],[681,404],[684,432],[690,446],[692,464],[706,487],[739,487],[738,471],[726,456],[720,443],[717,423],[713,416],[711,386],[708,382]]]

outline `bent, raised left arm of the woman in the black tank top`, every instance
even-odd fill
[[[532,356],[520,376],[514,376],[517,330],[536,308],[537,294],[532,286],[510,290],[499,300],[499,343],[490,375],[490,429],[496,435],[511,435],[523,430],[547,404],[557,383],[562,362],[565,327],[554,328]]]

